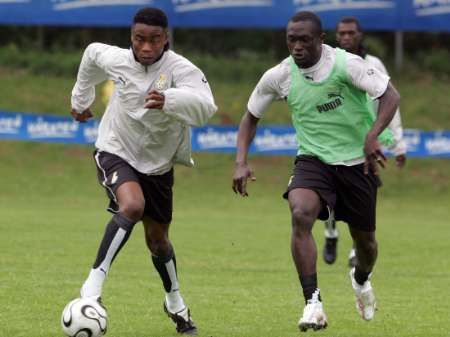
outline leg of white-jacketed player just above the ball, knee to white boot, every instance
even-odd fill
[[[114,258],[127,242],[134,225],[141,220],[145,200],[142,189],[135,181],[127,181],[116,191],[119,213],[107,224],[105,234],[98,249],[88,278],[81,288],[81,297],[100,298],[103,283]]]

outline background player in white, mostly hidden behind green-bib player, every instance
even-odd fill
[[[345,49],[349,53],[361,56],[376,69],[388,75],[386,67],[381,60],[373,55],[369,55],[366,48],[362,44],[363,32],[358,19],[352,16],[342,18],[336,27],[336,41],[340,48]],[[374,101],[374,109],[376,111],[378,102]],[[400,109],[395,112],[394,118],[389,123],[389,129],[392,131],[394,144],[391,151],[395,155],[397,167],[402,168],[406,163],[406,143],[403,139],[403,127],[400,118]],[[336,228],[336,221],[331,217],[325,221],[325,245],[323,247],[323,259],[328,264],[333,264],[337,258],[337,241],[339,232]],[[350,267],[356,265],[355,248],[350,249],[348,256],[348,264]]]

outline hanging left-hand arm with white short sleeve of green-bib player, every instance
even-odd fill
[[[250,96],[247,112],[239,124],[236,151],[236,166],[233,175],[233,191],[243,197],[248,196],[247,181],[255,180],[253,172],[247,162],[250,144],[255,138],[259,120],[272,101],[282,97],[279,90],[280,67],[268,70]]]

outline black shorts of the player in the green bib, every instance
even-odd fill
[[[313,156],[300,155],[295,160],[294,173],[283,197],[290,191],[306,188],[315,191],[321,201],[319,219],[326,220],[334,210],[336,220],[352,228],[374,231],[376,223],[378,176],[364,174],[364,164],[354,166],[328,165]]]

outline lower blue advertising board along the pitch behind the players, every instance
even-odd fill
[[[97,138],[98,124],[97,120],[78,123],[71,117],[0,111],[0,139],[93,144]],[[237,132],[237,126],[193,128],[192,150],[233,153],[236,151]],[[410,157],[450,158],[450,131],[407,129],[404,139]],[[249,152],[295,156],[295,131],[291,126],[260,126]]]

